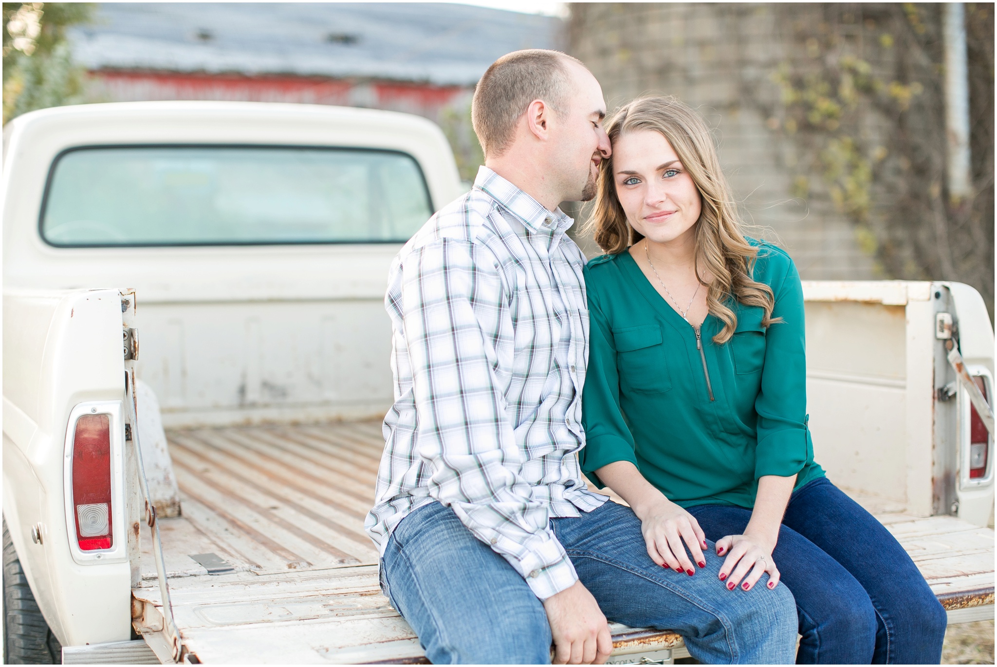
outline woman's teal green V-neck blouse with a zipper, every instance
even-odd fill
[[[585,268],[590,342],[582,393],[582,470],[630,461],[670,500],[755,505],[763,475],[824,476],[807,427],[804,296],[793,260],[759,247],[754,278],[772,288],[775,323],[759,307],[732,305],[738,324],[707,316],[696,332],[661,298],[629,253]],[[705,359],[705,360],[704,360]]]

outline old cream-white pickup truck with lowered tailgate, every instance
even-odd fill
[[[460,194],[443,134],[403,114],[134,103],[7,125],[5,662],[425,662],[363,518],[388,267]],[[982,300],[805,294],[818,460],[950,622],[993,618]],[[682,655],[672,633],[613,632],[611,662]]]

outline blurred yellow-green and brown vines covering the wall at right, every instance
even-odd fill
[[[776,11],[780,11],[776,9]],[[971,284],[992,308],[993,5],[967,5],[975,196],[945,187],[941,8],[826,4],[781,16],[797,48],[757,91],[769,127],[797,147],[793,195],[827,191],[884,276]],[[815,183],[813,179],[821,183]],[[991,317],[993,313],[991,312]]]

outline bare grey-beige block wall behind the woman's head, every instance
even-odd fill
[[[786,248],[804,279],[875,278],[873,258],[819,175],[809,178],[807,199],[794,198],[798,151],[753,103],[779,99],[771,74],[790,48],[780,33],[765,5],[573,3],[567,48],[595,74],[610,109],[661,93],[703,114],[745,222],[762,228],[750,232]]]

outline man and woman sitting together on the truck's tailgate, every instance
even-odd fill
[[[704,663],[937,664],[944,609],[814,460],[793,261],[694,110],[605,114],[574,58],[498,59],[486,165],[392,265],[385,593],[433,663],[602,663],[609,620]],[[558,205],[593,199],[586,267]]]

